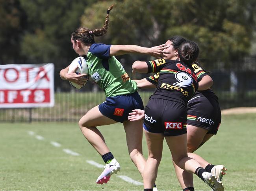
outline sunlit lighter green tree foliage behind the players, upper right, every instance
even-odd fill
[[[98,1],[85,9],[82,25],[101,27],[113,2],[108,34],[98,41],[149,47],[180,35],[198,43],[200,60],[210,68],[214,63],[230,67],[249,54],[256,13],[253,0]]]

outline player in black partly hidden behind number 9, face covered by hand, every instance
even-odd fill
[[[186,41],[186,39],[180,36],[173,36],[167,40],[165,44],[170,45],[170,47],[165,51],[170,52],[170,54],[166,55],[165,59],[177,60],[178,47],[184,41]],[[206,169],[206,171],[214,174],[217,180],[221,180],[226,171],[226,168],[223,165],[214,166],[193,153],[202,144],[204,144],[204,142],[209,140],[211,136],[216,135],[221,121],[221,111],[219,108],[218,98],[210,89],[211,85],[213,85],[212,78],[197,63],[193,63],[192,68],[198,78],[198,89],[189,100],[187,106],[188,156],[197,160],[199,164]],[[134,81],[137,83],[139,89],[155,88],[158,84],[158,78],[159,73]],[[128,118],[130,120],[142,120],[144,118],[143,113],[144,111],[136,109],[134,112],[130,113]],[[205,120],[203,118],[205,118]],[[207,119],[210,120],[207,121]],[[193,175],[184,171],[175,163],[173,163],[173,165],[183,191],[193,191]]]

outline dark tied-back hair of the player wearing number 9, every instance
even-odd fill
[[[197,43],[193,41],[182,42],[178,48],[178,55],[182,62],[185,62],[187,65],[192,65],[199,55],[199,47]]]

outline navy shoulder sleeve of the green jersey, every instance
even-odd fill
[[[110,46],[111,45],[96,43],[91,45],[89,51],[100,59],[106,59],[109,57]]]

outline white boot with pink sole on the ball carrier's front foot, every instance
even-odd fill
[[[116,174],[118,171],[120,171],[120,165],[117,160],[115,160],[115,158],[113,158],[109,164],[106,164],[104,168],[104,171],[96,180],[97,184],[107,183],[111,175],[113,175],[114,173]]]

